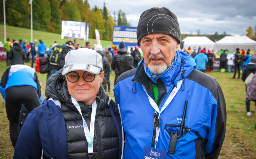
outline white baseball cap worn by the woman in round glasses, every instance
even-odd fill
[[[65,57],[62,75],[71,71],[87,71],[93,74],[99,74],[102,68],[102,56],[95,50],[79,48],[71,50]]]

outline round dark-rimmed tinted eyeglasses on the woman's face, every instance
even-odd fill
[[[95,74],[90,72],[84,72],[83,74],[78,74],[77,72],[69,72],[67,73],[67,79],[69,82],[75,83],[78,81],[79,75],[83,75],[83,79],[86,82],[92,82],[95,78]]]

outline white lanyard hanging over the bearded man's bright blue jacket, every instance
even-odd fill
[[[167,98],[167,100],[165,101],[164,105],[162,106],[162,109],[161,111],[159,110],[156,102],[150,97],[150,95],[147,93],[147,90],[145,88],[145,86],[143,86],[143,89],[144,91],[146,92],[147,96],[148,96],[148,100],[149,100],[149,103],[151,104],[151,106],[155,109],[156,112],[158,112],[159,116],[158,116],[158,127],[156,127],[156,144],[158,142],[158,136],[159,136],[159,133],[160,133],[160,129],[159,129],[159,126],[160,126],[160,120],[161,120],[161,113],[164,111],[164,109],[170,104],[170,102],[172,101],[172,99],[174,98],[174,96],[177,94],[178,90],[180,89],[181,87],[181,84],[182,84],[182,81],[183,80],[179,80],[178,83],[177,83],[177,87],[174,87],[172,92],[170,93],[169,97]],[[156,113],[155,112],[155,113]],[[156,144],[155,144],[155,148],[156,148]]]

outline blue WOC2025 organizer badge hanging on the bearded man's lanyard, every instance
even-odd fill
[[[143,159],[166,159],[167,150],[144,146]]]

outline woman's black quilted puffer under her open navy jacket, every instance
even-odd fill
[[[96,98],[97,112],[93,140],[93,159],[118,158],[118,135],[115,123],[109,112],[107,102]],[[78,102],[83,117],[90,127],[91,110],[83,102]],[[82,117],[76,107],[70,103],[61,102],[61,109],[67,130],[67,158],[87,159],[88,145],[84,135]]]

